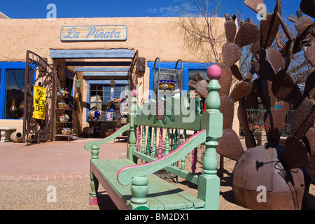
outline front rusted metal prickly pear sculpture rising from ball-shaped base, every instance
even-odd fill
[[[244,2],[256,10],[258,1]],[[301,14],[298,11],[299,18],[294,20],[297,36],[293,39],[281,18],[281,1],[276,1],[274,13],[261,20],[260,41],[252,47],[255,57],[253,71],[259,76],[254,81],[255,87],[267,108],[264,121],[268,143],[249,148],[233,172],[235,200],[248,209],[304,209],[307,206],[310,179],[304,166],[309,162],[309,142],[314,138],[315,101],[314,94],[309,94],[314,91],[314,78],[309,78],[314,76],[314,69],[307,78],[303,95],[287,71],[290,57],[299,52],[302,46],[306,47],[304,55],[307,61],[310,64],[314,61],[314,34],[311,32],[314,24],[311,25],[309,18],[299,16]],[[278,38],[280,26],[288,41],[285,45],[279,45],[281,49],[278,52],[270,46]],[[249,73],[245,80],[251,79],[251,75]],[[276,98],[286,102],[282,109],[274,107]],[[284,116],[290,109],[288,104],[295,109],[293,125],[285,146],[280,146]],[[260,187],[267,194],[265,202],[258,199]]]

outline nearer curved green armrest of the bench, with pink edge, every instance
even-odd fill
[[[167,167],[168,165],[181,160],[186,156],[193,148],[204,143],[206,140],[206,130],[197,132],[192,137],[187,139],[179,148],[176,148],[175,151],[165,155],[165,157],[155,160],[153,162],[148,162],[143,165],[134,165],[130,167],[123,167],[119,170],[117,174],[118,182],[121,185],[128,185],[132,182],[132,178],[138,176],[146,176],[148,174],[153,174],[160,169]]]

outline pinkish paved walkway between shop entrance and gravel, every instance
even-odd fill
[[[90,151],[84,144],[96,139],[54,141],[26,146],[0,143],[0,181],[48,181],[90,177]],[[100,147],[99,158],[120,158],[127,143],[109,142]]]

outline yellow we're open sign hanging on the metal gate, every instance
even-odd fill
[[[47,90],[44,87],[34,85],[33,118],[45,120],[46,91]]]

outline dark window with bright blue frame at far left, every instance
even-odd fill
[[[25,62],[0,62],[0,119],[22,119]]]

